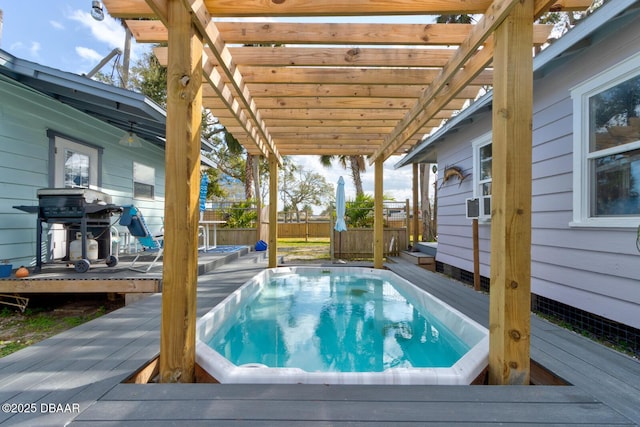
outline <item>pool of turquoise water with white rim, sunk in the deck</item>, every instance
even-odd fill
[[[196,358],[223,383],[469,384],[488,334],[389,271],[277,268],[198,322]]]

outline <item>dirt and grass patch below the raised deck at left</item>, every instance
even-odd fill
[[[123,306],[106,294],[30,295],[24,312],[0,304],[0,357]]]

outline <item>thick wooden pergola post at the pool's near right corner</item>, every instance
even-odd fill
[[[533,5],[494,33],[489,382],[529,384]]]

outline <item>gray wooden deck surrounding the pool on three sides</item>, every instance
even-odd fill
[[[400,259],[387,266],[487,324],[486,295]],[[250,253],[201,276],[199,315],[264,267],[260,254]],[[640,422],[640,363],[535,316],[532,358],[572,385],[123,384],[158,354],[160,299],[153,295],[0,359],[0,402],[15,404],[16,411],[24,410],[17,405],[35,404],[35,413],[3,409],[0,423],[610,426]]]

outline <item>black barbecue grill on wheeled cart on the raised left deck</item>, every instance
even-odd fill
[[[24,212],[38,215],[36,221],[36,268],[42,269],[42,224],[63,224],[67,233],[67,255],[71,261],[70,244],[76,237],[82,240],[82,257],[75,261],[79,273],[89,270],[91,262],[87,256],[89,234],[98,242],[98,259],[104,259],[113,267],[118,258],[111,254],[111,216],[122,208],[111,203],[111,196],[88,188],[41,188],[38,190],[38,206],[14,206]]]

